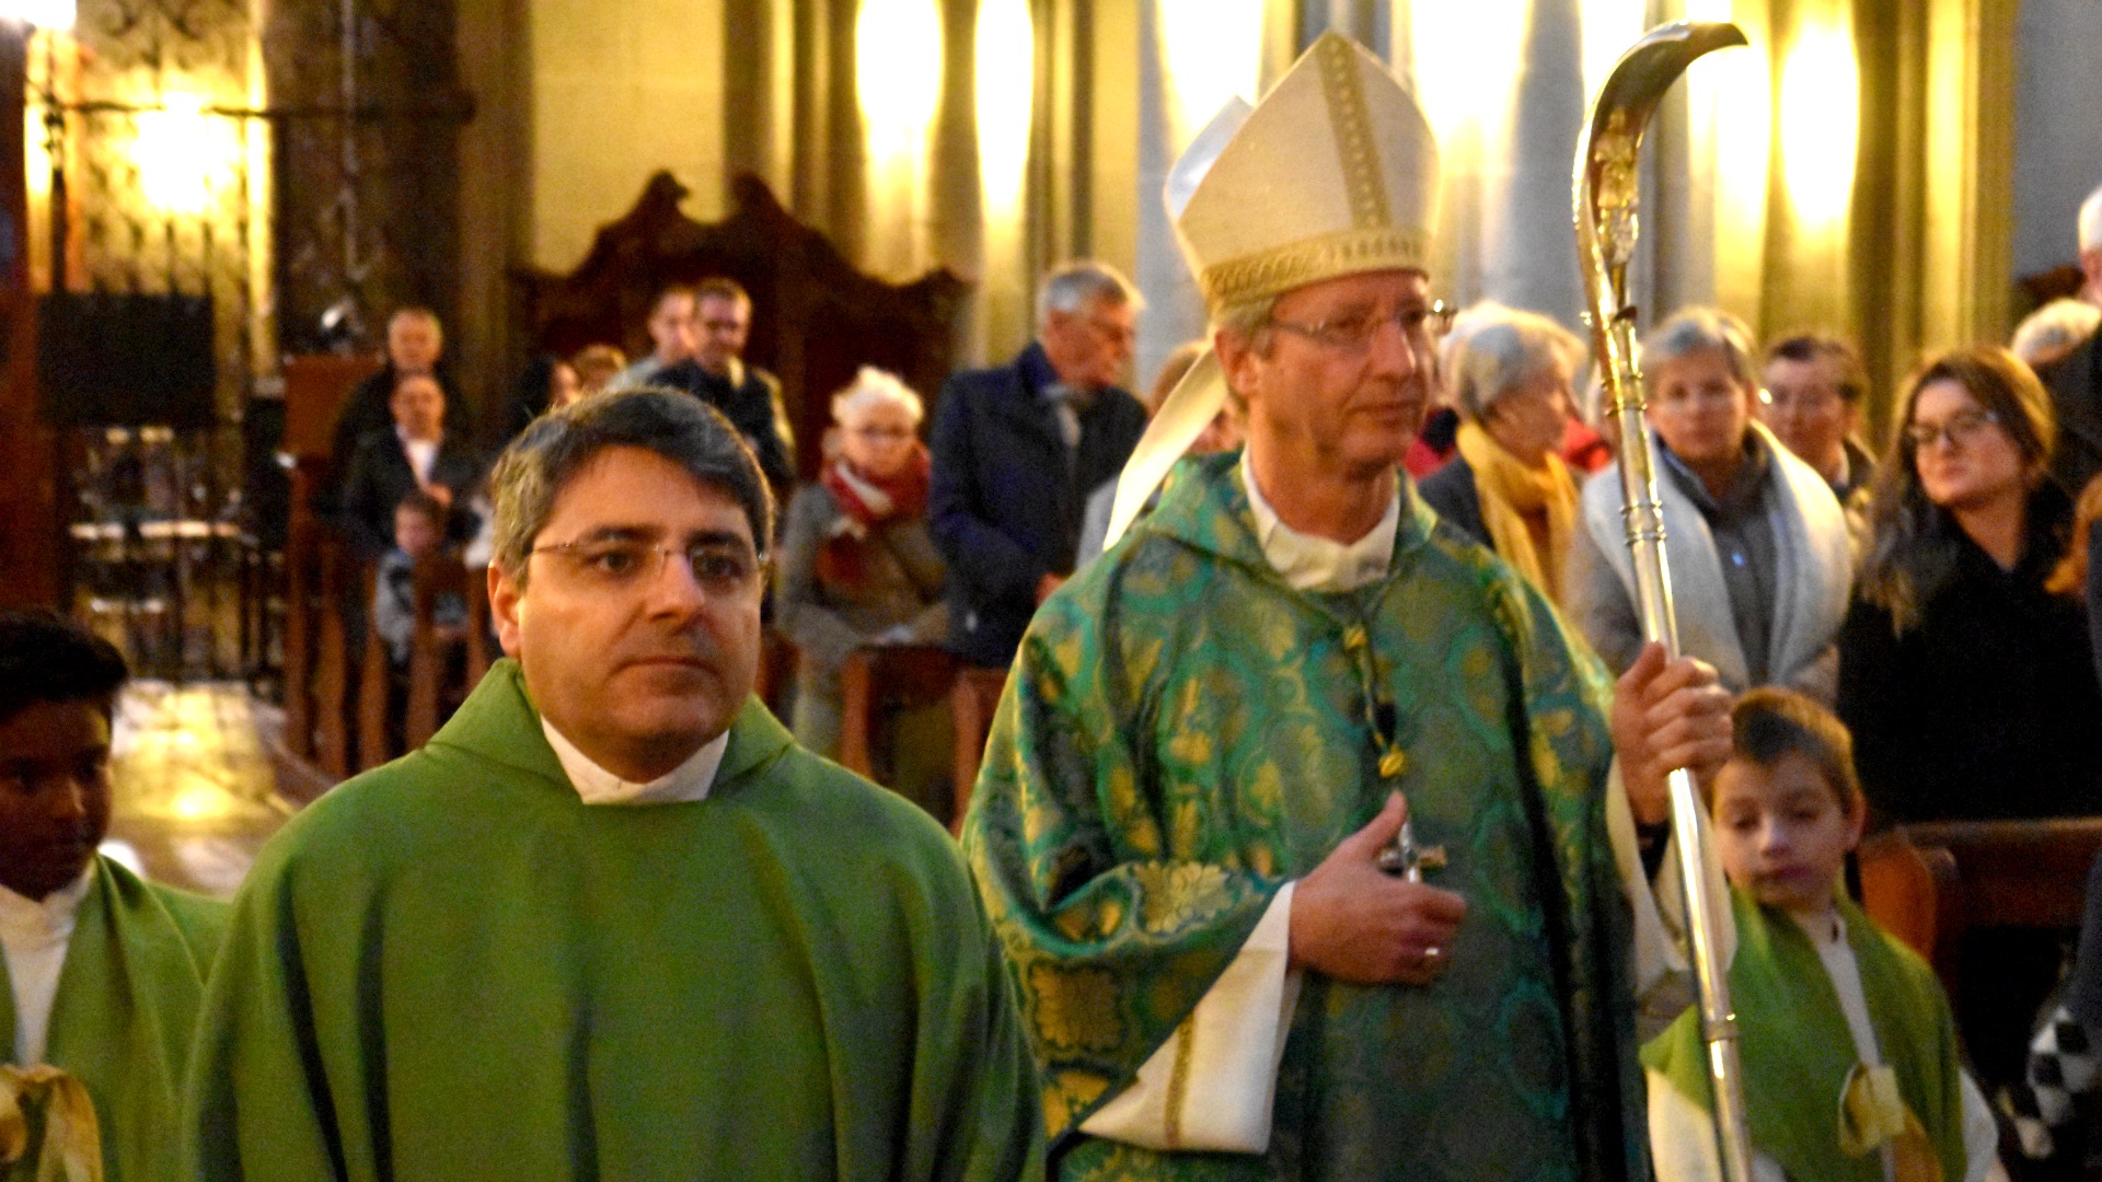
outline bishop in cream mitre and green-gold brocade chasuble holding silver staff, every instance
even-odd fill
[[[1246,448],[1036,614],[965,824],[1062,1178],[1648,1178],[1635,835],[1728,694],[1661,648],[1610,684],[1402,475],[1434,156],[1328,36],[1169,179],[1213,351],[1120,507],[1221,398]]]

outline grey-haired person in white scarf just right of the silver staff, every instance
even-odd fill
[[[1705,307],[1642,341],[1679,641],[1732,692],[1787,686],[1829,705],[1854,580],[1846,511],[1753,419],[1753,358],[1751,332]],[[1621,473],[1608,467],[1583,490],[1564,587],[1570,616],[1614,669],[1642,650],[1623,522]]]

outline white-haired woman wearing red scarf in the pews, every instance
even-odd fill
[[[927,536],[921,414],[906,383],[864,366],[832,398],[837,448],[782,522],[776,625],[801,654],[792,730],[826,757],[839,755],[839,667],[847,654],[864,644],[940,644],[948,635],[942,557]],[[933,745],[946,755],[940,736],[914,730],[904,719],[898,747]],[[883,778],[912,795],[895,768]]]

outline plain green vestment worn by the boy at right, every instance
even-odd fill
[[[1730,892],[1730,906],[1736,917],[1730,1007],[1745,1064],[1751,1146],[1804,1182],[1881,1182],[1879,1153],[1850,1157],[1839,1148],[1839,1102],[1860,1060],[1825,961],[1787,915],[1759,906],[1740,890]],[[1963,1064],[1942,984],[1917,953],[1852,900],[1839,898],[1837,906],[1860,967],[1877,1052],[1896,1071],[1898,1094],[1940,1157],[1942,1178],[1957,1182],[1967,1167]],[[1694,1010],[1642,1047],[1642,1060],[1705,1113],[1715,1113]]]

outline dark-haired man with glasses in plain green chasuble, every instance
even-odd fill
[[[774,507],[729,423],[584,400],[513,442],[494,501],[509,658],[259,856],[193,1176],[1040,1176],[954,845],[753,698]]]

